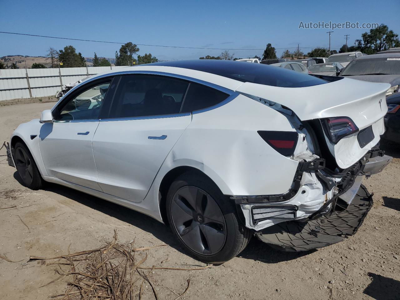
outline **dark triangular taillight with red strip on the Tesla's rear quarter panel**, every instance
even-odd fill
[[[272,148],[284,156],[292,156],[296,149],[298,133],[292,131],[262,131],[257,133]]]

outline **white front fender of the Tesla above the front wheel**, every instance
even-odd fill
[[[14,130],[10,140],[12,140],[14,136],[18,136],[19,138],[21,138],[26,146],[28,146],[28,149],[34,158],[36,165],[38,166],[40,174],[42,176],[47,176],[46,168],[44,167],[42,156],[39,150],[39,134],[42,125],[44,124],[41,124],[39,119],[34,119],[27,123],[22,123],[16,128],[16,130]],[[36,135],[36,137],[31,139],[31,136],[34,135]]]

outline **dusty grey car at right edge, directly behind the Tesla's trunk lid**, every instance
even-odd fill
[[[398,93],[400,88],[400,53],[358,57],[350,62],[338,76],[370,82],[387,82],[390,88],[386,96],[391,96]]]

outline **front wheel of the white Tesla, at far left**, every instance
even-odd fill
[[[14,163],[22,183],[27,188],[38,190],[42,187],[42,176],[28,147],[17,142],[14,147]]]

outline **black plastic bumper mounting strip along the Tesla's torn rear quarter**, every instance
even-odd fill
[[[318,158],[310,162],[299,162],[296,173],[294,174],[293,184],[284,194],[277,195],[252,195],[252,196],[231,196],[230,199],[235,200],[236,204],[257,203],[257,202],[279,202],[293,198],[300,189],[303,172],[317,171],[325,168],[325,160]]]

